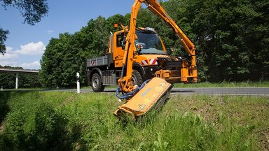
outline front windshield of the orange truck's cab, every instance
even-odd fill
[[[136,31],[136,34],[137,40],[135,41],[135,45],[138,51],[141,50],[140,53],[167,55],[158,34],[152,31],[139,30]]]

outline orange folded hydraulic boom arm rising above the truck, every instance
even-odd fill
[[[131,12],[131,20],[130,20],[130,27],[129,32],[125,39],[125,52],[123,56],[123,69],[121,78],[118,80],[118,84],[120,89],[123,92],[132,92],[135,89],[134,85],[132,84],[132,64],[133,64],[133,57],[134,52],[136,51],[135,48],[135,30],[137,28],[137,14],[139,8],[141,7],[142,3],[145,3],[148,8],[158,15],[163,21],[165,21],[177,34],[180,38],[181,44],[184,46],[185,50],[188,52],[188,55],[191,56],[191,66],[186,67],[186,70],[182,70],[181,75],[182,79],[186,78],[193,78],[193,82],[197,82],[197,69],[196,69],[196,60],[195,60],[195,45],[193,42],[184,34],[184,31],[180,29],[180,27],[172,20],[170,15],[168,15],[160,3],[157,0],[135,0],[135,3],[132,5],[132,12]],[[188,74],[188,72],[190,74]],[[125,75],[123,74],[125,73]]]

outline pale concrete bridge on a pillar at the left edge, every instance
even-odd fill
[[[6,69],[6,68],[0,68],[0,73],[15,73],[16,74],[15,89],[18,89],[18,87],[19,87],[19,73],[20,74],[39,74],[39,71],[24,70],[24,69]]]

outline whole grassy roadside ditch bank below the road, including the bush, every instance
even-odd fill
[[[120,122],[114,94],[0,92],[0,150],[269,150],[269,99],[170,95]]]

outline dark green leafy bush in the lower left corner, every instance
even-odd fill
[[[22,99],[9,104],[12,112],[1,136],[1,150],[70,150],[67,115],[40,99],[38,92],[18,96]]]

